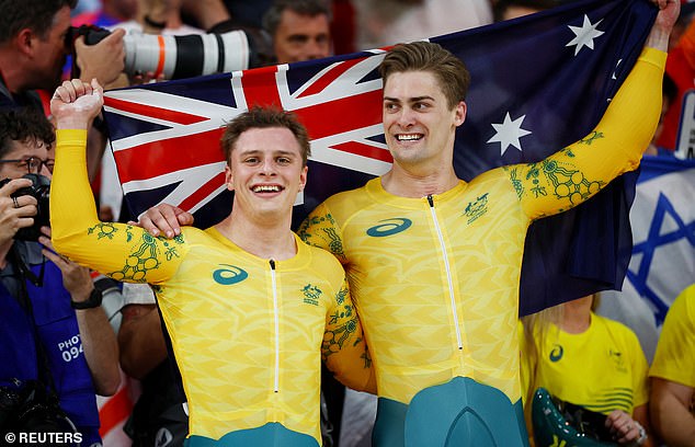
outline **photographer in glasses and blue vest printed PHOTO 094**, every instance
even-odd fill
[[[37,396],[45,391],[47,398],[27,405],[49,403],[55,393],[60,408],[46,419],[62,410],[90,446],[101,443],[94,393],[116,391],[118,354],[89,271],[55,254],[50,229],[38,228],[47,220],[54,142],[42,114],[0,112],[0,431],[38,429],[12,421],[23,413],[12,406],[22,404],[13,397],[38,382]],[[49,431],[69,432],[64,423]]]

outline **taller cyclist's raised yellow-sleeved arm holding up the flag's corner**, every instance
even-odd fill
[[[654,3],[662,9],[642,54],[599,125],[538,163],[505,168],[528,217],[572,208],[639,165],[659,124],[665,50],[680,11],[673,0]]]

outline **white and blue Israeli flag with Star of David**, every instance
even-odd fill
[[[633,256],[623,291],[604,291],[600,313],[638,335],[651,362],[675,297],[695,283],[695,160],[645,156],[630,210]]]

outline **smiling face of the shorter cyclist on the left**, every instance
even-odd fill
[[[286,127],[243,131],[226,168],[227,188],[235,191],[233,213],[265,224],[292,219],[292,207],[306,181],[300,146]]]

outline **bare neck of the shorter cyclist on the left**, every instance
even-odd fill
[[[288,260],[297,254],[297,244],[289,229],[289,221],[269,225],[232,216],[215,228],[243,251],[275,261]]]

